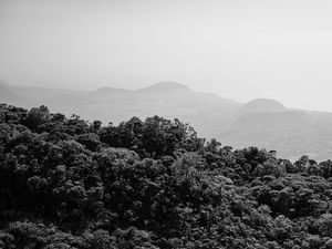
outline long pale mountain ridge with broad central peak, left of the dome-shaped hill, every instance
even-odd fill
[[[7,92],[11,93],[7,93]],[[46,105],[66,115],[120,123],[133,116],[160,115],[190,123],[203,136],[218,134],[234,122],[241,103],[217,94],[196,92],[177,82],[159,82],[137,90],[101,87],[94,91],[10,85],[1,94],[10,103],[13,94],[24,100],[21,106]]]

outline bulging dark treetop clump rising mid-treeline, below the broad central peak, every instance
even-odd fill
[[[104,127],[98,134],[108,146],[126,147],[152,158],[174,155],[179,148],[198,151],[204,145],[204,139],[198,138],[189,125],[159,116],[148,117],[145,122],[133,117],[118,126]]]

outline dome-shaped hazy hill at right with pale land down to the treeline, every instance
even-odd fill
[[[253,100],[237,113],[228,131],[217,135],[235,148],[257,146],[274,149],[292,160],[309,155],[317,160],[331,157],[332,114],[290,110],[273,100]]]

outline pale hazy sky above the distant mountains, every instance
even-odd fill
[[[0,0],[12,84],[194,90],[332,111],[331,0]]]

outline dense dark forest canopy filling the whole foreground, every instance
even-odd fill
[[[331,177],[178,120],[0,106],[1,249],[328,249]]]

